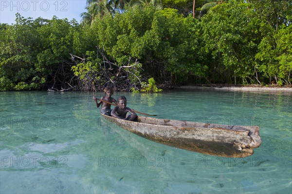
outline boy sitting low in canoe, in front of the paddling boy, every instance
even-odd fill
[[[120,96],[118,98],[118,105],[115,106],[112,111],[111,111],[111,116],[123,120],[128,120],[128,121],[135,121],[137,118],[137,114],[127,107],[127,98],[125,96]],[[130,113],[127,117],[127,113]]]

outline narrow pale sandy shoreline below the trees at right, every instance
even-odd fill
[[[193,85],[193,86],[180,86],[177,89],[216,89],[216,90],[232,90],[232,91],[285,91],[292,92],[292,87],[279,87],[279,86],[259,86],[259,85]]]

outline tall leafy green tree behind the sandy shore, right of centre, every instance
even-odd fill
[[[253,55],[256,52],[256,25],[249,22],[253,11],[246,3],[223,3],[202,18],[205,49],[219,60],[217,71],[226,71],[242,79],[255,71]],[[210,25],[212,24],[212,25]]]

